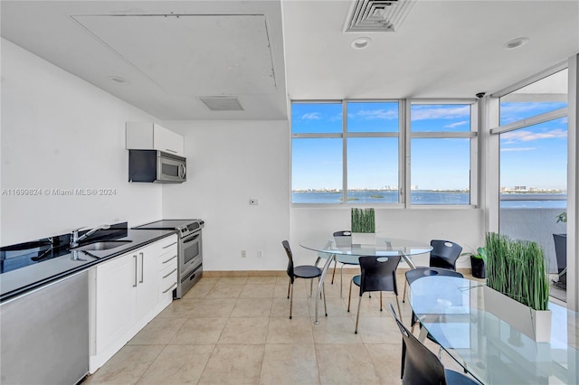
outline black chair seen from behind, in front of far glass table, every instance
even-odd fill
[[[360,319],[360,304],[362,303],[362,296],[365,292],[380,292],[380,311],[382,311],[382,292],[390,291],[396,296],[396,304],[398,304],[398,311],[400,312],[400,303],[398,302],[398,288],[396,286],[396,268],[400,263],[400,256],[394,257],[369,257],[364,256],[358,258],[360,263],[359,276],[355,276],[350,281],[350,292],[347,298],[347,311],[350,311],[350,303],[352,301],[352,284],[360,287],[360,296],[358,298],[358,311],[356,314],[356,329],[354,333],[358,333],[358,321]]]

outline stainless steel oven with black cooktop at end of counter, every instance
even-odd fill
[[[163,220],[134,227],[135,230],[177,230],[177,286],[174,298],[181,298],[203,275],[202,220]]]

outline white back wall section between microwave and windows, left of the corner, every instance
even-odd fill
[[[187,182],[163,186],[164,218],[201,218],[204,270],[281,270],[289,238],[287,121],[165,122],[185,136]],[[258,206],[249,204],[259,200]],[[241,258],[241,250],[247,257]],[[258,258],[258,250],[263,257]]]

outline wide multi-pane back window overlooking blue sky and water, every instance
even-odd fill
[[[294,101],[292,202],[469,205],[473,101],[406,103]]]

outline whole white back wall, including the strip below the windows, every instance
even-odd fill
[[[201,218],[205,270],[283,270],[281,240],[289,239],[296,263],[316,256],[299,247],[310,237],[327,237],[350,226],[344,208],[291,208],[289,127],[280,121],[165,122],[185,136],[187,182],[163,187],[164,218]],[[257,198],[259,206],[250,206]],[[376,230],[393,238],[451,239],[464,250],[484,239],[476,209],[377,209]],[[321,246],[321,245],[320,245]],[[241,258],[241,250],[247,258]],[[257,250],[263,258],[257,258]],[[416,258],[428,265],[428,256]],[[469,268],[469,258],[459,267]]]

